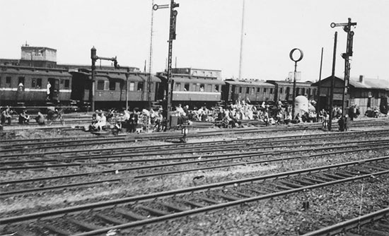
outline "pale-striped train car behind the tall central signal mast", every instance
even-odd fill
[[[209,71],[209,70],[207,70]],[[168,79],[166,73],[157,73],[161,78],[159,99],[166,99]],[[172,105],[190,105],[191,107],[213,107],[221,100],[221,87],[224,82],[217,76],[191,75],[190,73],[172,74]]]

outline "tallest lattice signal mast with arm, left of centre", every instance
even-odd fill
[[[180,4],[176,4],[174,0],[170,1],[170,25],[169,25],[169,51],[168,51],[168,88],[166,91],[166,105],[164,112],[166,112],[166,118],[168,119],[168,124],[170,124],[170,115],[169,112],[171,110],[172,103],[172,93],[173,93],[173,81],[172,81],[172,52],[173,52],[173,40],[175,40],[175,25],[177,20],[178,11],[174,10],[174,8],[179,7]],[[158,8],[168,8],[168,4],[153,6],[153,10],[156,11]]]

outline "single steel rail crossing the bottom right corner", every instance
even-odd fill
[[[350,220],[343,221],[341,223],[337,223],[335,225],[330,225],[320,230],[315,230],[312,232],[308,232],[303,236],[319,236],[319,235],[336,235],[341,232],[346,232],[352,228],[357,228],[359,225],[366,225],[368,223],[372,223],[372,221],[380,220],[385,216],[389,216],[389,208],[381,209],[380,211],[375,211],[372,213],[368,213],[364,216],[359,216],[357,218],[352,218]]]

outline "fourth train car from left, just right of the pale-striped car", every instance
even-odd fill
[[[223,100],[228,103],[237,101],[259,104],[261,102],[274,101],[275,85],[257,80],[233,80],[226,79],[223,86]]]

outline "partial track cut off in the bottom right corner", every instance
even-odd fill
[[[389,208],[308,232],[303,236],[330,235],[389,235]]]

